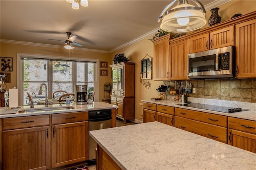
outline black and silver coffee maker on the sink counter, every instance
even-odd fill
[[[76,105],[87,104],[87,85],[75,85]]]

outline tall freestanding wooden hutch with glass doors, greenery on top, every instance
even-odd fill
[[[122,62],[110,65],[112,70],[111,103],[118,106],[116,116],[126,120],[135,119],[135,63]]]

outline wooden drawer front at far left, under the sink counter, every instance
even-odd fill
[[[50,125],[50,115],[4,118],[3,130]]]

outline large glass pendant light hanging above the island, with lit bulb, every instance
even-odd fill
[[[158,23],[162,20],[160,24],[162,30],[174,33],[190,32],[202,28],[206,24],[206,11],[201,2],[191,0],[197,5],[194,6],[188,4],[188,0],[178,0],[177,6],[171,8],[176,1],[168,4],[158,17]]]

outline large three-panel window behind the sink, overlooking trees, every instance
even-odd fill
[[[60,57],[52,56],[25,56],[17,55],[20,65],[20,76],[17,82],[20,90],[20,105],[28,104],[28,93],[33,95],[34,104],[45,99],[45,88],[42,88],[42,95],[38,95],[40,84],[47,85],[48,99],[52,99],[52,93],[58,90],[74,93],[75,85],[87,85],[87,93],[98,91],[96,77],[96,66],[98,59],[78,61],[78,59],[63,60]],[[81,60],[81,59],[79,59]],[[91,60],[91,61],[90,61]],[[18,68],[17,68],[18,69]],[[96,96],[95,96],[96,101]]]

